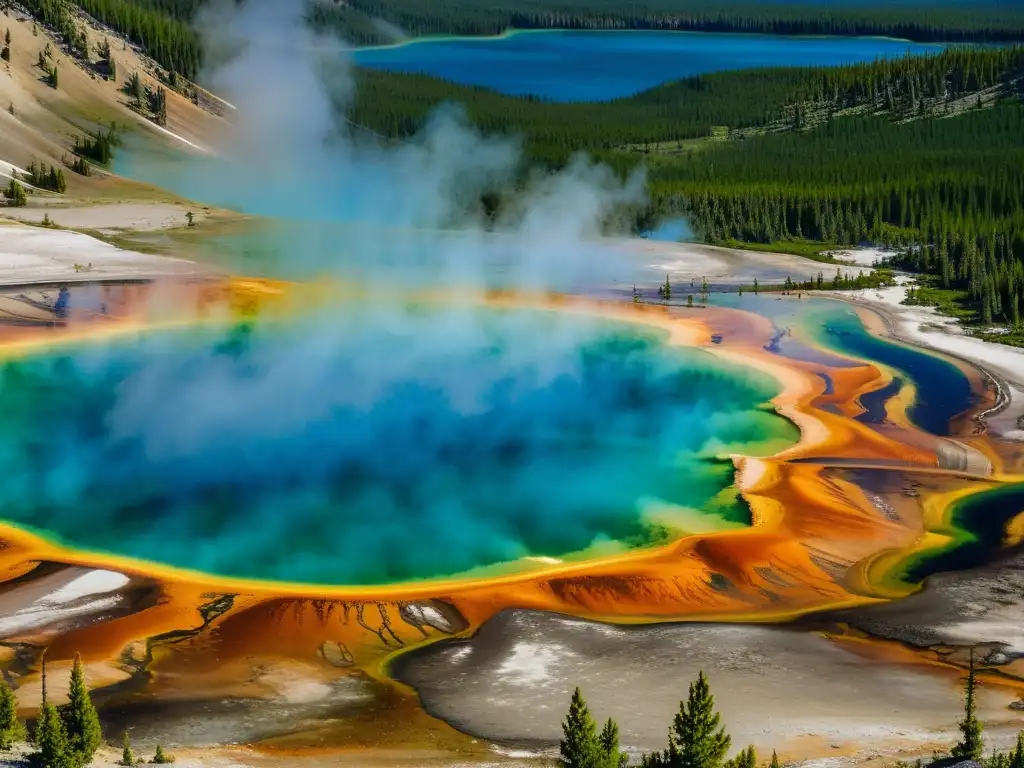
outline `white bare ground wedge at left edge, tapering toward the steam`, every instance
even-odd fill
[[[208,267],[191,261],[124,251],[79,232],[0,226],[0,285],[153,280],[211,273]]]

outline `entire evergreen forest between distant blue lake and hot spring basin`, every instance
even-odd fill
[[[360,72],[350,119],[414,134],[438,103],[520,135],[532,161],[581,148],[648,169],[648,216],[711,242],[869,241],[964,290],[979,319],[1024,314],[1024,48],[722,73],[602,103],[503,96]]]

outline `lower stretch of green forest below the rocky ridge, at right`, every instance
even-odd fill
[[[1022,322],[1024,104],[902,124],[856,117],[659,160],[656,206],[710,242],[863,242],[979,302],[982,322]]]

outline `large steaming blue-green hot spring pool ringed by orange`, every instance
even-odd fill
[[[3,517],[210,574],[382,585],[749,524],[777,384],[643,326],[347,307],[0,362]]]

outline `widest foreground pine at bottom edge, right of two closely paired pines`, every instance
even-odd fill
[[[686,701],[680,701],[679,712],[669,733],[669,766],[671,768],[719,768],[732,737],[719,727],[722,717],[715,712],[708,678],[701,672],[690,683]]]

